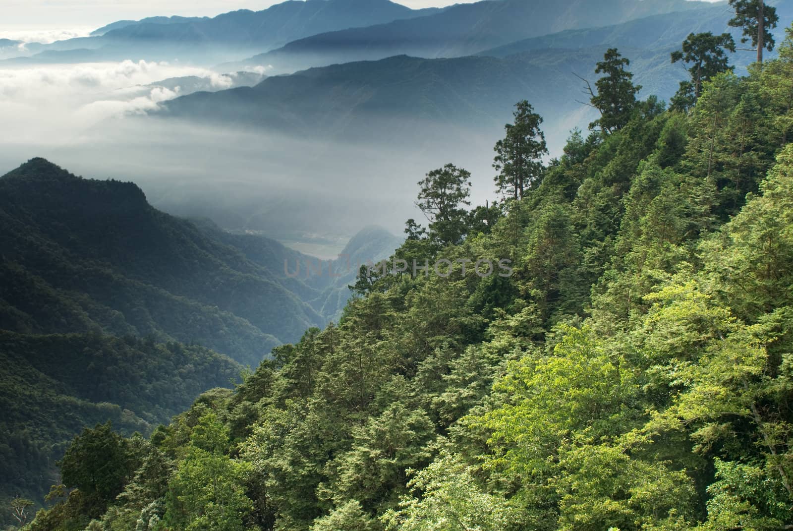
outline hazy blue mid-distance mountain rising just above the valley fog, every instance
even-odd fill
[[[668,56],[623,53],[634,60],[640,82],[643,72],[665,81],[662,98],[683,79],[684,72],[669,64]],[[495,139],[515,102],[528,99],[546,117],[546,130],[566,136],[563,124],[585,111],[577,102],[580,81],[573,72],[594,71],[602,57],[602,48],[505,58],[395,56],[273,76],[255,87],[191,94],[164,102],[157,115],[397,149],[454,144],[471,131]]]

